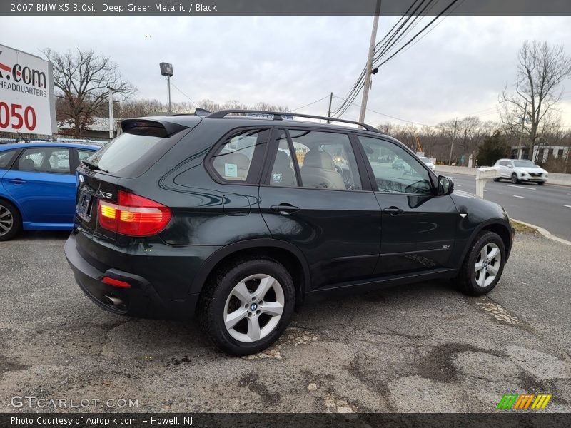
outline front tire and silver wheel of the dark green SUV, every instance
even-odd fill
[[[492,253],[493,250],[497,250],[497,253]],[[484,253],[487,256],[485,259]],[[456,285],[467,295],[485,295],[500,280],[504,265],[505,246],[502,238],[497,233],[482,230],[468,250],[456,277]]]

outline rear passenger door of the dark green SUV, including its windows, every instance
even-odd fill
[[[273,238],[301,250],[313,289],[372,275],[379,205],[348,134],[276,129],[269,149],[261,213]]]

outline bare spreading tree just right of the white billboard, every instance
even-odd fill
[[[71,132],[81,136],[94,123],[97,116],[107,116],[108,88],[113,88],[116,101],[122,101],[136,93],[136,88],[123,80],[116,63],[94,51],[68,50],[59,54],[51,49],[42,51],[54,64],[54,86],[60,123],[69,123]]]

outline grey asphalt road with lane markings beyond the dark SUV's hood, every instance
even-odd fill
[[[455,188],[476,193],[474,175],[443,173],[453,178]],[[512,184],[488,181],[484,198],[502,205],[511,218],[541,226],[553,235],[571,241],[571,188],[535,183]]]

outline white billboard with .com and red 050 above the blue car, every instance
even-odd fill
[[[0,44],[0,132],[56,131],[51,63]]]

